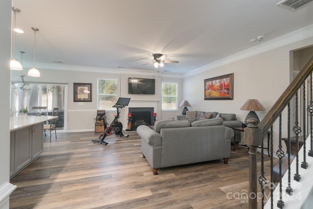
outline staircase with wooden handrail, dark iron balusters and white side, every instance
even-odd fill
[[[275,104],[259,121],[255,118],[248,120],[244,141],[249,147],[250,176],[249,176],[249,209],[295,209],[312,208],[313,205],[313,92],[312,92],[313,56],[305,67],[291,81],[287,89]],[[308,79],[308,80],[307,80]],[[307,105],[308,104],[308,105]],[[294,113],[294,124],[291,124],[291,106]],[[299,111],[300,109],[300,111]],[[302,111],[301,111],[302,110]],[[283,119],[284,118],[284,119]],[[299,119],[300,118],[300,119]],[[282,123],[282,120],[284,121]],[[300,121],[301,120],[301,121]],[[276,129],[276,127],[278,128]],[[273,129],[275,127],[275,130]],[[291,147],[291,135],[295,139],[295,158],[291,159],[291,148],[283,150],[282,130],[287,130],[287,147]],[[271,171],[264,172],[263,136],[270,130]],[[291,133],[293,132],[293,134]],[[278,138],[273,139],[273,133]],[[300,149],[301,136],[309,136],[303,140]],[[278,141],[278,147],[273,147],[273,140]],[[300,141],[302,142],[302,141]],[[257,173],[257,149],[261,146],[261,172]],[[279,159],[274,170],[273,156]],[[287,170],[283,161],[287,160]],[[291,162],[292,161],[292,162]],[[278,176],[274,182],[274,174]],[[284,174],[284,175],[283,175]],[[270,179],[266,179],[270,176]],[[261,188],[259,195],[258,185]],[[267,192],[269,190],[269,192]],[[268,194],[269,193],[269,194]],[[258,206],[258,204],[260,204]]]

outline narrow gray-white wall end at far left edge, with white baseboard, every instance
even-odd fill
[[[11,0],[2,0],[0,6],[0,209],[9,208],[9,195],[16,188],[10,181],[10,60],[11,60]]]

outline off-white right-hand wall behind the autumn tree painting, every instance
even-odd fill
[[[290,51],[310,45],[313,45],[313,38],[186,77],[183,80],[183,97],[193,104],[192,110],[235,113],[242,121],[248,111],[240,108],[247,99],[256,98],[266,108],[266,111],[257,112],[262,120],[290,83]],[[234,99],[204,100],[204,79],[228,73],[234,73]],[[277,131],[274,126],[276,139]],[[286,130],[283,130],[283,137],[286,137]]]

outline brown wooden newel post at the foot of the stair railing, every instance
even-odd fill
[[[259,120],[249,118],[249,125],[245,128],[244,142],[249,147],[249,209],[258,208],[258,178],[256,150],[262,145],[262,130],[258,127]]]

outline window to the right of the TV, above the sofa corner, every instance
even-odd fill
[[[177,83],[162,83],[162,110],[177,110]]]

